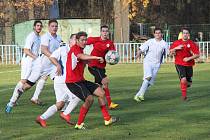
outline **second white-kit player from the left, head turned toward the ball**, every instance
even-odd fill
[[[36,90],[31,98],[31,102],[38,105],[42,104],[38,98],[48,78],[48,75],[50,75],[53,70],[53,64],[50,62],[49,57],[52,52],[59,48],[61,43],[61,37],[56,34],[58,30],[58,22],[56,20],[50,20],[48,27],[49,32],[41,37],[41,79],[37,82]],[[40,75],[35,72],[32,77],[29,77],[28,80],[35,83],[35,80],[38,76]]]

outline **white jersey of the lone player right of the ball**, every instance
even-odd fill
[[[168,44],[162,39],[155,38],[147,40],[140,46],[140,50],[145,54],[144,63],[161,64],[165,54],[169,52]]]

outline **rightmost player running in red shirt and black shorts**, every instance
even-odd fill
[[[175,55],[175,67],[180,79],[182,100],[187,100],[187,88],[192,85],[194,59],[199,58],[199,48],[190,40],[189,29],[182,29],[182,39],[174,41],[170,53]]]

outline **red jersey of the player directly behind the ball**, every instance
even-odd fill
[[[90,54],[92,56],[103,57],[105,59],[105,55],[109,50],[115,50],[114,43],[109,39],[102,40],[101,37],[89,37],[87,40],[87,45],[91,44],[93,44],[93,50]],[[91,60],[88,66],[105,68],[106,61],[100,63],[98,60]]]

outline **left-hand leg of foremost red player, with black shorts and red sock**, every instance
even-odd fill
[[[89,108],[93,104],[93,96],[83,82],[67,83],[66,85],[74,95],[84,101],[80,108],[80,113],[77,124],[75,125],[75,129],[85,129],[84,120],[86,114],[89,111]]]

